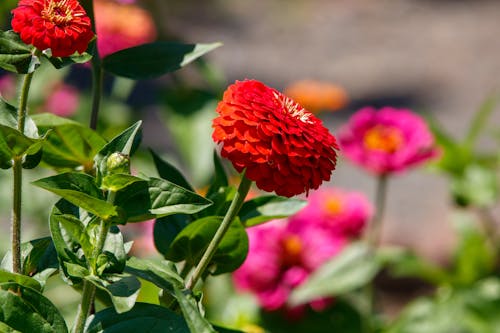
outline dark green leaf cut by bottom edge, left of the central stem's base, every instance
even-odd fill
[[[184,318],[169,309],[136,303],[128,312],[104,309],[87,321],[85,333],[191,333]]]

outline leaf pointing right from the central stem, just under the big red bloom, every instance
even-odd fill
[[[246,201],[239,212],[245,227],[251,227],[273,219],[291,216],[307,205],[307,201],[278,196],[262,196]]]

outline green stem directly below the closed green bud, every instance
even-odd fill
[[[115,200],[115,196],[116,196],[115,192],[111,191],[108,192],[107,202],[113,203]],[[99,234],[97,235],[97,242],[92,251],[91,261],[94,262],[97,261],[97,258],[102,253],[110,227],[111,225],[109,224],[109,222],[101,219],[99,225]],[[92,275],[97,274],[95,265],[92,265],[92,267],[90,267],[90,273]],[[89,282],[88,280],[83,281],[82,301],[78,306],[78,311],[76,313],[75,324],[73,326],[73,333],[83,333],[83,330],[85,328],[85,322],[87,321],[87,317],[90,314],[90,308],[92,306],[92,303],[94,302],[95,290],[96,287],[95,285],[92,284],[92,282]]]

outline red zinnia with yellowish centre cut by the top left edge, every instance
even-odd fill
[[[12,11],[12,29],[26,44],[50,49],[54,57],[83,53],[94,37],[77,0],[21,0]]]

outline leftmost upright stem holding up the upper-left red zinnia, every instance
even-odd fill
[[[19,96],[19,109],[17,113],[17,129],[24,133],[24,125],[27,116],[28,94],[33,79],[34,72],[26,74],[21,86]],[[20,156],[14,157],[12,161],[12,221],[11,221],[11,236],[12,236],[12,271],[21,273],[21,203],[22,203],[22,186],[23,186],[23,159]]]

